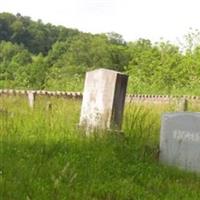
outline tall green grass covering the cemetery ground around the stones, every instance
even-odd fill
[[[0,199],[200,199],[199,175],[159,164],[160,117],[175,105],[126,104],[123,134],[90,137],[77,126],[80,105],[0,97]]]

